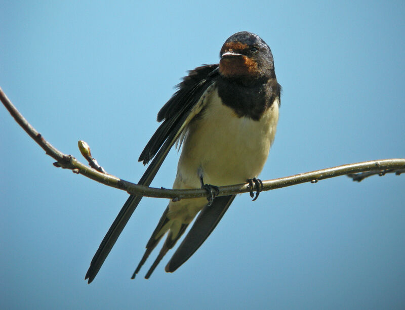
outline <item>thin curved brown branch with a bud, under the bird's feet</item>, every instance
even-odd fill
[[[45,150],[47,155],[56,160],[56,162],[54,163],[56,167],[70,169],[74,173],[82,174],[87,178],[100,182],[104,185],[124,190],[127,191],[129,194],[134,195],[155,198],[171,198],[175,200],[207,196],[207,192],[204,189],[169,190],[164,188],[151,188],[137,185],[119,179],[114,175],[101,172],[104,171],[104,169],[100,165],[98,165],[97,161],[91,156],[90,148],[87,150],[86,146],[83,146],[83,144],[79,144],[80,151],[82,152],[82,154],[83,152],[85,153],[84,156],[89,161],[89,164],[93,167],[96,167],[97,169],[89,167],[82,162],[79,162],[73,156],[66,155],[60,152],[58,149],[52,146],[52,144],[45,140],[44,137],[28,123],[28,121],[11,103],[6,94],[3,92],[2,88],[0,88],[0,100],[10,112],[10,114],[14,117],[16,122],[27,132],[27,134]],[[85,150],[82,150],[83,148],[85,148]],[[332,168],[315,170],[311,172],[299,173],[291,176],[286,176],[285,178],[263,181],[263,191],[269,191],[306,182],[316,183],[320,180],[334,178],[335,176],[345,174],[349,175],[353,179],[353,181],[360,182],[367,176],[374,174],[384,175],[385,173],[395,172],[399,175],[401,172],[404,172],[404,169],[405,158],[364,161]],[[366,172],[366,174],[362,174],[360,172]],[[249,183],[221,186],[219,187],[218,196],[247,193],[251,191],[252,188]]]

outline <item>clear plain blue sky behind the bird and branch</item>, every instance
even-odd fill
[[[271,47],[284,87],[263,180],[405,157],[403,1],[14,1],[0,20],[9,98],[55,147],[80,158],[85,140],[120,178],[144,172],[137,158],[180,77],[242,30]],[[55,168],[4,108],[0,130],[2,309],[405,307],[405,175],[241,195],[176,273],[168,255],[131,281],[167,204],[145,198],[88,285],[127,194]],[[152,185],[171,187],[177,159]]]

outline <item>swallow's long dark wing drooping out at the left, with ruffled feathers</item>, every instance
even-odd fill
[[[152,158],[153,160],[138,184],[150,185],[181,132],[195,115],[203,109],[204,95],[209,91],[218,74],[218,64],[195,68],[189,72],[188,76],[183,78],[183,81],[178,85],[179,90],[161,108],[157,120],[164,120],[164,122],[157,128],[139,157],[139,161],[143,161],[144,164]],[[119,211],[90,263],[85,277],[85,279],[89,279],[88,283],[91,283],[96,277],[108,253],[127,225],[141,199],[142,196],[131,195]]]

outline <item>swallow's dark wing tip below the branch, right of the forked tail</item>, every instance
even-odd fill
[[[201,210],[194,225],[166,265],[166,272],[174,272],[206,241],[234,198],[235,195],[216,197],[211,206],[206,205]]]

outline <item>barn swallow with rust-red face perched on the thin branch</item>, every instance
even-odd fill
[[[157,121],[163,123],[139,157],[144,164],[152,160],[138,183],[149,186],[171,147],[175,143],[182,145],[173,188],[202,186],[210,199],[169,202],[132,278],[167,234],[145,276],[148,279],[198,212],[166,265],[166,272],[174,272],[203,244],[235,198],[215,197],[217,186],[259,182],[256,178],[273,143],[280,106],[281,86],[275,76],[273,56],[258,35],[247,31],[230,36],[219,56],[219,64],[197,67],[183,78],[177,92],[157,114]],[[90,264],[85,278],[89,283],[141,199],[142,196],[131,195],[118,213]]]

